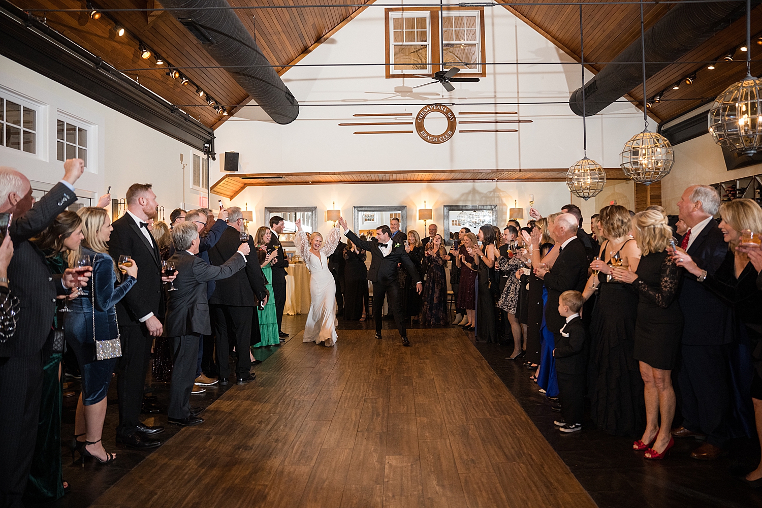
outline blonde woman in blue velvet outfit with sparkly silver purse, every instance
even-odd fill
[[[103,208],[87,207],[77,211],[82,218],[82,248],[79,255],[90,256],[92,277],[85,288],[89,293],[72,301],[73,312],[66,315],[64,331],[66,343],[74,350],[82,372],[82,395],[77,404],[74,452],[94,457],[98,462],[111,462],[117,455],[107,453],[101,444],[103,422],[106,417],[106,394],[117,359],[95,358],[94,339],[110,340],[119,336],[117,314],[114,305],[126,295],[137,282],[138,268],[122,266],[126,277],[117,286],[117,265],[108,255],[107,242],[111,236],[111,221]],[[93,337],[94,332],[94,337]]]

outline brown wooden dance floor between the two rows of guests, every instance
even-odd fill
[[[456,328],[302,334],[91,506],[595,506]]]

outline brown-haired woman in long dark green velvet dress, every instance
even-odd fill
[[[53,274],[63,273],[69,267],[66,260],[69,252],[77,252],[82,235],[82,219],[75,212],[61,212],[53,224],[32,238],[37,248],[45,254],[45,260]],[[43,366],[43,389],[40,401],[40,417],[37,422],[37,443],[34,447],[32,468],[29,474],[24,501],[27,503],[49,503],[60,499],[69,490],[62,478],[61,467],[61,411],[62,387],[61,359],[63,357],[63,319],[59,312],[66,312],[68,299],[56,305],[53,326],[61,333],[61,340],[54,340],[53,353],[45,359]],[[59,297],[60,298],[60,297]],[[56,342],[61,348],[56,348]],[[57,349],[57,350],[56,350]]]

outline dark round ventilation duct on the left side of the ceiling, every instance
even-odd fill
[[[296,120],[299,103],[226,0],[162,0],[162,5],[181,9],[169,13],[194,34],[207,53],[226,67],[275,122]]]

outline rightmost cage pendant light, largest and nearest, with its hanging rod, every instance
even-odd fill
[[[709,110],[715,142],[742,155],[762,150],[762,79],[751,76],[751,0],[746,2],[746,77],[719,94]]]

